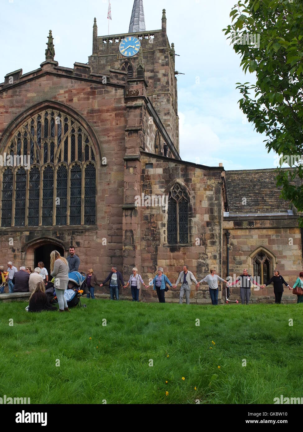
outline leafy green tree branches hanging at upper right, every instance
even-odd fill
[[[223,29],[241,56],[243,70],[256,73],[256,84],[236,83],[239,105],[255,129],[265,133],[268,152],[280,158],[277,186],[281,197],[303,212],[301,163],[281,169],[286,156],[303,155],[303,6],[302,0],[242,0]],[[303,226],[303,219],[300,219]]]

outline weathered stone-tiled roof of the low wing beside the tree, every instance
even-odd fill
[[[285,168],[287,169],[287,168]],[[276,186],[276,169],[226,171],[226,191],[233,214],[283,213],[291,209],[290,201],[280,198],[281,187]],[[296,178],[294,184],[301,184]],[[246,205],[242,200],[246,198]]]

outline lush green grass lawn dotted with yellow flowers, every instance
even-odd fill
[[[303,397],[303,305],[83,302],[87,308],[69,314],[31,314],[28,303],[0,302],[0,397],[31,403]]]

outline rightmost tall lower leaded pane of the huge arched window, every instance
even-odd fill
[[[92,163],[85,168],[84,225],[96,223],[96,168]]]

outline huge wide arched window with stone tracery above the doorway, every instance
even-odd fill
[[[76,119],[47,108],[19,124],[2,151],[11,159],[0,167],[2,227],[96,223],[96,155]]]

